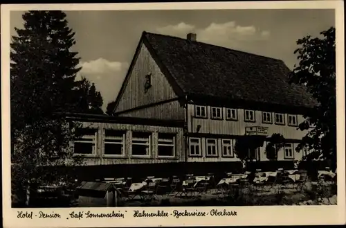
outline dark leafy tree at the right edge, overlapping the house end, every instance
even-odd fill
[[[291,73],[292,83],[304,85],[316,100],[311,112],[304,115],[300,130],[308,130],[295,149],[307,148],[311,153],[307,159],[323,158],[336,169],[336,53],[335,28],[320,33],[322,37],[310,35],[297,41],[300,46],[298,66]],[[312,126],[312,128],[311,128]]]

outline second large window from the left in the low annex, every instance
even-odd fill
[[[104,155],[124,155],[125,132],[105,130]]]

